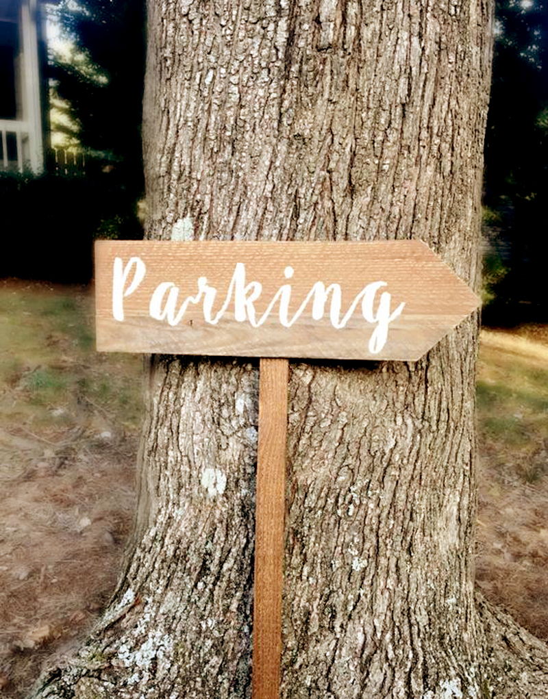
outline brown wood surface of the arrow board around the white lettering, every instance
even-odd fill
[[[250,241],[99,241],[96,255],[96,336],[99,351],[208,354],[221,356],[303,357],[315,359],[395,359],[414,361],[479,306],[473,291],[424,243],[418,240],[374,242],[250,242]],[[146,267],[143,281],[123,299],[124,320],[113,317],[113,264],[139,257]],[[213,312],[222,308],[238,262],[245,264],[246,284],[261,282],[254,301],[260,317],[283,284],[291,284],[289,317],[312,285],[340,284],[342,314],[367,284],[383,281],[375,296],[388,291],[391,309],[405,308],[389,326],[386,345],[370,352],[375,325],[366,322],[358,305],[340,329],[329,320],[330,299],[321,320],[312,318],[308,303],[291,327],[280,323],[279,303],[256,328],[235,318],[234,305],[216,325],[204,319],[203,303],[190,303],[184,317],[171,326],[150,317],[150,299],[162,282],[178,287],[177,308],[196,296],[198,279],[217,289]],[[284,270],[294,269],[290,280]],[[126,290],[133,271],[128,273]],[[376,311],[375,311],[376,312]]]

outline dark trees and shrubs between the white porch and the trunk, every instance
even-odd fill
[[[61,0],[46,8],[55,151],[40,175],[0,173],[3,225],[13,233],[0,276],[85,284],[95,238],[143,236],[145,4]]]

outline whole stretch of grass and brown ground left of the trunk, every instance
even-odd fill
[[[92,295],[0,281],[0,697],[92,626],[135,509],[135,356],[98,354]]]

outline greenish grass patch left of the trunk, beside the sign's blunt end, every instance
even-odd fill
[[[0,419],[95,431],[140,424],[140,357],[95,351],[93,298],[81,287],[0,287]],[[107,424],[108,423],[108,424]]]

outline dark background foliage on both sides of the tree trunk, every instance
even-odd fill
[[[496,0],[484,179],[486,324],[547,320],[548,13],[543,1]],[[52,137],[55,144],[78,150],[87,165],[85,173],[65,171],[58,179],[51,172],[13,177],[13,182],[2,176],[0,202],[11,230],[24,225],[38,235],[44,231],[46,238],[48,219],[47,230],[55,231],[67,253],[73,251],[75,267],[81,268],[73,280],[87,282],[93,238],[142,235],[145,2],[61,0],[48,8]],[[17,221],[14,194],[28,201],[24,221]],[[0,273],[61,280],[55,264],[26,264],[13,257],[13,266],[4,263]]]

